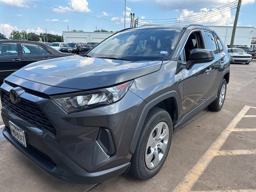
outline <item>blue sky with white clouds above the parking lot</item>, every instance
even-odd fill
[[[96,29],[121,30],[124,28],[124,0],[0,0],[0,32],[9,36],[12,30],[26,30],[28,32],[60,34],[68,30],[93,31]],[[169,19],[189,16],[195,23],[204,25],[232,25],[236,9],[228,7],[215,11],[207,17],[204,12],[219,8],[235,0],[126,0],[126,26],[130,26],[129,14],[135,13],[141,23],[152,23],[154,19]],[[42,4],[39,4],[42,3]],[[61,9],[70,10],[67,12]],[[256,2],[243,0],[238,20],[239,26],[256,27]],[[224,12],[225,11],[225,12]],[[91,15],[93,17],[77,14]],[[195,20],[196,14],[201,19]],[[210,13],[208,13],[210,14]],[[100,19],[101,18],[101,19]],[[181,19],[182,20],[182,19]],[[176,21],[176,19],[172,20]],[[184,21],[183,21],[184,22]]]

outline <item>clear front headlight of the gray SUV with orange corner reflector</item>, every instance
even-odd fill
[[[82,111],[108,105],[122,99],[131,87],[132,82],[133,81],[129,81],[114,87],[95,91],[51,96],[51,99],[60,105],[67,113]]]

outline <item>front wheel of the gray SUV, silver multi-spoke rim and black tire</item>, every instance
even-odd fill
[[[152,108],[143,124],[129,172],[140,180],[155,176],[162,168],[172,142],[172,119],[167,111]]]

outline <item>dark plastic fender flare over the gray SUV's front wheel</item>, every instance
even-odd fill
[[[174,97],[175,100],[176,100],[176,108],[177,108],[177,117],[180,116],[180,98],[179,98],[179,94],[178,92],[176,91],[169,91],[169,92],[166,92],[166,93],[163,93],[159,96],[157,96],[156,98],[150,100],[145,106],[144,108],[142,109],[142,112],[140,114],[140,118],[138,120],[138,123],[136,125],[136,128],[135,128],[135,131],[134,131],[134,134],[133,134],[133,137],[132,137],[132,142],[131,142],[131,146],[129,148],[129,152],[131,154],[134,153],[135,149],[136,149],[136,146],[137,146],[137,143],[138,143],[138,140],[139,140],[139,137],[140,137],[140,132],[142,130],[142,126],[145,122],[145,119],[148,115],[148,112],[149,110],[154,107],[157,103],[165,100],[165,99],[168,99],[170,97]]]

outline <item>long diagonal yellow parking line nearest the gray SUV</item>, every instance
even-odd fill
[[[179,185],[173,190],[173,192],[189,191],[196,183],[197,179],[203,173],[204,169],[212,161],[214,155],[211,151],[220,150],[231,131],[236,127],[238,122],[243,118],[246,112],[250,109],[250,106],[245,105],[244,108],[235,116],[235,118],[228,124],[226,129],[220,134],[220,136],[212,143],[211,147],[207,149],[204,155],[198,160],[194,167],[188,172]]]

